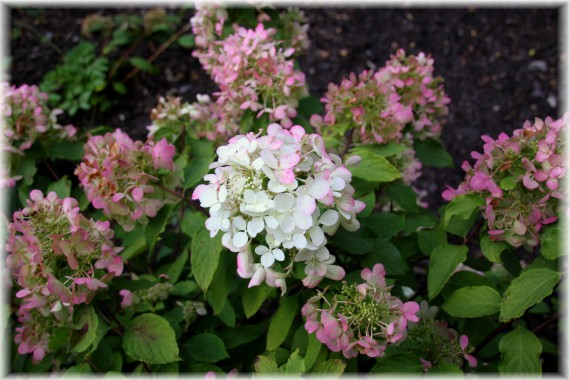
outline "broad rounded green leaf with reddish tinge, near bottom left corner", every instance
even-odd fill
[[[131,320],[125,327],[123,348],[133,359],[149,364],[179,360],[174,330],[156,314],[142,314]]]

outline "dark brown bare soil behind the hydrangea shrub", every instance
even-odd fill
[[[8,31],[17,28],[21,34],[10,38],[9,80],[39,83],[58,64],[56,50],[73,47],[82,19],[95,12],[140,9],[10,9]],[[180,12],[185,20],[192,15],[191,10]],[[445,184],[455,187],[462,180],[461,162],[470,159],[471,151],[481,150],[482,134],[496,137],[521,128],[527,119],[558,115],[558,67],[564,58],[558,50],[557,9],[309,8],[306,16],[312,46],[300,66],[311,94],[318,97],[329,82],[378,68],[398,48],[434,57],[436,74],[445,79],[452,100],[442,140],[456,166],[426,168],[418,180],[434,209],[443,204],[439,194]],[[152,49],[144,46],[137,55],[149,56]],[[103,114],[78,114],[74,124],[108,125],[144,139],[158,96],[194,101],[196,94],[216,89],[188,49],[168,49],[154,63],[161,67],[160,74],[140,74],[128,81],[129,92],[120,106]],[[558,368],[554,356],[545,358],[545,371]]]

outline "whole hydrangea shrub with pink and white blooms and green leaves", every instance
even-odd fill
[[[159,96],[146,142],[61,127],[35,86],[3,85],[11,372],[552,367],[566,115],[483,136],[434,212],[415,186],[451,165],[453,126],[429,54],[333,80],[322,107],[303,12],[199,4],[189,22],[173,36],[218,89]]]

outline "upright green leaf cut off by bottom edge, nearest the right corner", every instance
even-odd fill
[[[542,372],[539,359],[542,345],[532,331],[517,327],[503,336],[499,342],[499,351],[499,372],[503,375]]]

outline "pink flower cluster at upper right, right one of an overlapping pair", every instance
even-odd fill
[[[406,55],[399,49],[386,66],[378,71],[383,80],[393,84],[400,102],[413,111],[411,130],[414,138],[438,138],[443,116],[449,113],[450,99],[445,94],[443,79],[433,77],[433,58],[425,53]]]

